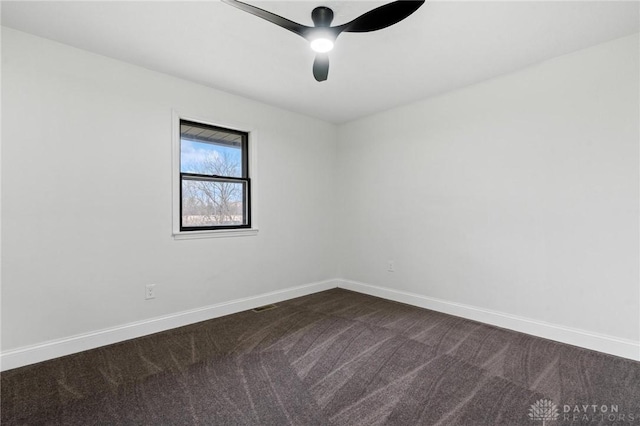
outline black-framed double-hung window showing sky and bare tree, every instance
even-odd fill
[[[251,228],[249,133],[180,125],[179,231]]]

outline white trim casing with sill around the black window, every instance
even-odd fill
[[[215,127],[222,127],[230,130],[246,132],[248,140],[248,160],[249,179],[251,179],[250,203],[251,203],[251,228],[239,229],[207,229],[202,231],[181,231],[180,230],[180,120],[194,121],[196,123],[207,124]],[[172,176],[172,229],[173,238],[176,240],[218,238],[218,237],[242,237],[258,234],[258,165],[257,147],[258,135],[252,126],[225,123],[207,117],[194,114],[184,114],[179,111],[172,111],[172,143],[171,143],[171,176]]]

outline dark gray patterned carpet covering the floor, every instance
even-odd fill
[[[341,289],[10,370],[1,390],[3,425],[532,426],[540,399],[547,425],[640,425],[638,362]],[[573,417],[594,404],[618,412]]]

